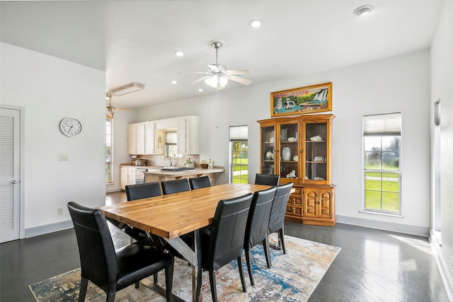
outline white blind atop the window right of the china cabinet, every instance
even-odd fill
[[[401,135],[401,112],[363,116],[364,136]]]

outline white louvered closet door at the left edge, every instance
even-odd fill
[[[20,110],[0,108],[0,242],[19,238]]]

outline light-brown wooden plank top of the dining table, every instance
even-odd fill
[[[268,189],[268,185],[225,184],[98,207],[110,218],[163,238],[176,238],[209,226],[217,203]]]

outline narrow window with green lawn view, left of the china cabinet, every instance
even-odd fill
[[[248,183],[248,126],[229,127],[230,182]]]

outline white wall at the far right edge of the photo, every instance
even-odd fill
[[[440,100],[441,273],[453,296],[453,2],[445,1],[431,48],[431,103]],[[433,132],[432,132],[433,133]]]

